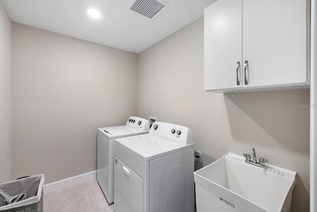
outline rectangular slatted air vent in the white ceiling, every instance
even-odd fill
[[[133,0],[128,6],[128,9],[152,19],[167,6],[168,4],[162,0]]]

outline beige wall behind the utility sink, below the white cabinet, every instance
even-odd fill
[[[309,90],[204,92],[204,19],[139,54],[138,115],[192,129],[206,166],[255,147],[269,163],[297,171],[292,211],[309,211]],[[250,173],[252,174],[252,173]],[[272,194],[273,195],[273,194]]]

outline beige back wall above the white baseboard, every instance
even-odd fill
[[[98,127],[137,115],[137,55],[13,23],[12,175],[96,170]]]

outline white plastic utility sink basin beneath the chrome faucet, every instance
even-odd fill
[[[226,153],[194,172],[197,212],[290,212],[296,172]]]

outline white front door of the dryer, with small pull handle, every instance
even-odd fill
[[[133,212],[143,212],[143,179],[117,157],[114,162],[114,186]]]

